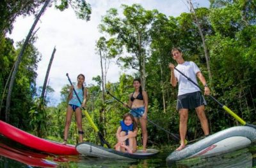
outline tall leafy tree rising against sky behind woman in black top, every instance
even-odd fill
[[[111,8],[103,17],[100,30],[108,32],[116,39],[116,55],[122,53],[121,47],[125,46],[124,55],[118,55],[118,60],[124,67],[131,67],[140,73],[141,86],[145,88],[148,47],[150,45],[150,24],[154,20],[156,10],[145,10],[140,4],[132,6],[122,5],[124,18],[118,17],[115,8]]]

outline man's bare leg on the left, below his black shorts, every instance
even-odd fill
[[[185,137],[187,134],[188,109],[179,109],[180,114],[180,146],[176,150],[185,148]]]

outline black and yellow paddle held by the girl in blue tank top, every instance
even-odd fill
[[[68,76],[68,73],[66,74],[67,77],[68,77],[68,81],[70,82],[70,85],[72,85],[72,81],[70,80],[69,76]],[[77,92],[76,90],[73,88],[74,90],[74,93],[76,94],[76,97],[78,99],[78,101],[80,102],[80,104],[82,104],[81,100],[79,99],[78,95],[77,95]],[[83,108],[83,107],[82,107]],[[97,132],[99,138],[100,138],[100,143],[102,146],[104,146],[104,144],[106,144],[106,146],[108,146],[108,148],[111,148],[111,146],[109,145],[109,143],[106,141],[106,139],[104,139],[104,137],[102,136],[102,134],[100,133],[99,129],[96,127],[96,125],[93,123],[92,121],[92,118],[91,116],[89,115],[88,111],[86,111],[84,108],[83,108],[83,111],[88,119],[88,121],[91,123],[93,129]]]

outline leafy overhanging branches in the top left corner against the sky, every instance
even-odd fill
[[[12,32],[13,29],[13,22],[15,19],[22,16],[27,15],[36,15],[37,8],[45,3],[46,0],[22,0],[22,1],[15,1],[15,0],[4,0],[0,3],[0,37],[6,34],[6,32]],[[84,20],[90,20],[90,14],[92,13],[92,9],[90,4],[86,3],[84,0],[61,0],[61,3],[58,4],[60,1],[53,0],[52,2],[55,3],[55,7],[58,10],[65,10],[68,6],[71,6],[75,11],[78,18]],[[51,4],[51,2],[50,2]]]

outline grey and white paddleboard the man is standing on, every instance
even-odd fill
[[[190,144],[183,150],[173,151],[166,158],[166,162],[172,163],[195,157],[212,157],[246,148],[254,142],[256,142],[256,129],[253,127],[231,127]]]

